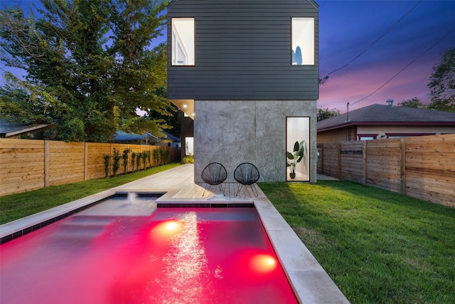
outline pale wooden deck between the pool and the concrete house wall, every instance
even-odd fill
[[[183,164],[158,174],[144,177],[115,189],[122,191],[166,192],[167,199],[252,199],[266,198],[257,184],[240,187],[239,183],[223,183],[210,186],[205,190],[205,183],[194,182],[194,165]],[[240,187],[240,192],[238,191]],[[238,192],[238,193],[237,193]]]

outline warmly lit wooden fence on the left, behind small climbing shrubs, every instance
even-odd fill
[[[150,152],[151,162],[146,160],[147,168],[164,163],[160,157],[154,157],[154,150],[168,151],[165,152],[168,161],[180,160],[176,147],[0,139],[0,196],[105,177],[104,155],[109,155],[109,175],[112,175],[114,151],[122,156],[125,149],[131,151],[126,172],[144,169],[142,159],[139,166],[132,167],[133,152]],[[123,173],[121,159],[117,174]]]

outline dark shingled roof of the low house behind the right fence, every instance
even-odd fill
[[[348,125],[455,125],[455,112],[376,104],[321,120],[317,127],[326,131]]]

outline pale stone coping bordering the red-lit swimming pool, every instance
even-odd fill
[[[39,229],[43,226],[63,219],[66,216],[75,214],[99,201],[109,199],[118,194],[134,192],[137,194],[163,194],[156,199],[156,204],[216,204],[231,205],[254,204],[257,213],[269,236],[272,246],[279,258],[284,273],[294,290],[297,300],[300,303],[349,303],[341,293],[338,286],[333,283],[316,258],[301,242],[291,226],[287,224],[281,214],[275,209],[267,198],[232,199],[220,196],[200,199],[176,199],[173,192],[153,192],[150,190],[122,190],[109,189],[104,192],[92,194],[68,204],[56,206],[52,209],[26,216],[23,219],[11,221],[0,226],[0,243],[6,243],[24,234]]]

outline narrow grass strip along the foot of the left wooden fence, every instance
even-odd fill
[[[89,179],[84,182],[51,186],[30,192],[0,196],[0,224],[8,223],[24,216],[36,214],[76,199],[102,192],[136,179],[147,177],[167,169],[179,166],[180,163],[165,164],[131,174],[113,178]],[[50,199],[52,198],[52,199]]]

